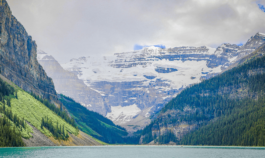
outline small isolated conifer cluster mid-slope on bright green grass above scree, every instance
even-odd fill
[[[57,125],[54,126],[52,125],[52,120],[46,116],[45,118],[42,118],[40,127],[41,129],[43,129],[43,127],[46,127],[56,137],[56,139],[67,140],[69,137],[68,132],[64,132],[64,125],[62,128],[62,125],[60,124],[59,128],[59,124],[57,122]]]

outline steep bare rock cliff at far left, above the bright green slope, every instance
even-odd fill
[[[36,59],[37,45],[0,0],[0,73],[25,91],[33,91],[55,103],[52,82]]]

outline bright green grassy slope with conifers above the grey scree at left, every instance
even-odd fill
[[[10,81],[6,83],[1,79],[0,83],[1,147],[24,146],[22,137],[27,139],[33,133],[27,122],[48,137],[67,140],[67,132],[78,135],[78,129],[67,123],[67,119],[62,119],[32,95]],[[42,123],[44,118],[45,124]]]

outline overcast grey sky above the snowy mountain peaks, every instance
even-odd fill
[[[6,1],[38,49],[60,64],[149,45],[243,44],[265,33],[264,0]]]

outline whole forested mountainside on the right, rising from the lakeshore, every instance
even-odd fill
[[[140,143],[264,146],[265,44],[237,67],[187,87],[141,132]]]

